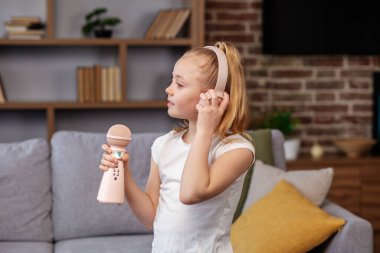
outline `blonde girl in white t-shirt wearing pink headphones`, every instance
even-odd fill
[[[153,228],[152,252],[232,252],[231,222],[254,161],[242,136],[248,109],[238,50],[218,42],[186,52],[166,94],[168,114],[184,123],[154,141],[145,192],[123,157],[128,204]],[[100,169],[115,167],[109,146],[102,148]]]

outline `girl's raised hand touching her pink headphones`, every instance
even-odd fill
[[[214,131],[226,110],[229,102],[229,96],[226,92],[223,99],[216,95],[214,89],[200,94],[199,103],[196,105],[198,111],[197,131]]]

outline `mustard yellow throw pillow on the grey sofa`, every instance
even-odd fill
[[[304,253],[344,224],[282,180],[232,224],[231,243],[234,253]]]

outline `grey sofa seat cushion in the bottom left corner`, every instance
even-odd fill
[[[49,242],[0,242],[0,252],[53,253],[53,244]]]

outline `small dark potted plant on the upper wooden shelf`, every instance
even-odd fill
[[[117,17],[102,17],[107,12],[107,8],[96,8],[85,16],[86,23],[82,26],[82,33],[86,37],[94,33],[96,38],[111,38],[112,30],[107,27],[113,27],[121,23]]]

